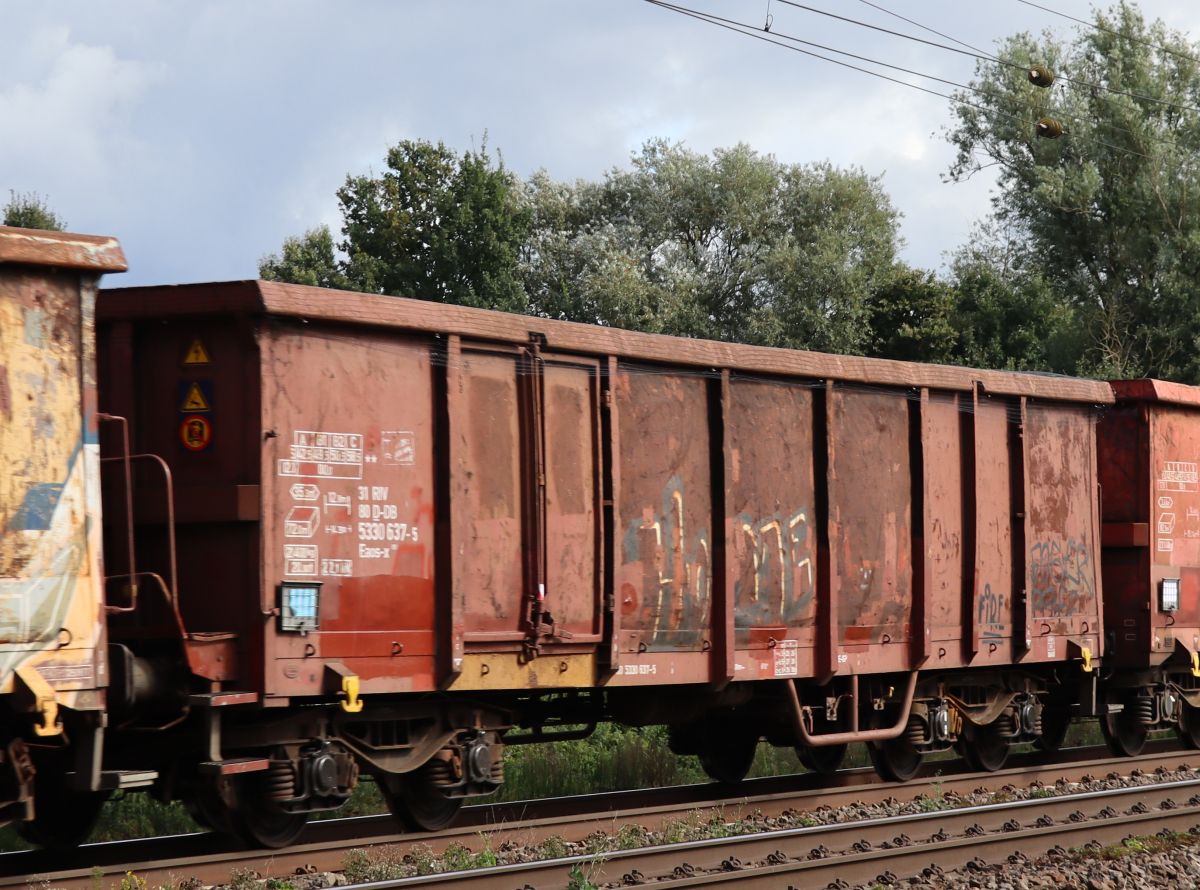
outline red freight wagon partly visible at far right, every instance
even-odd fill
[[[1117,754],[1141,751],[1152,729],[1200,747],[1200,387],[1118,380],[1112,391],[1098,429],[1100,726]]]

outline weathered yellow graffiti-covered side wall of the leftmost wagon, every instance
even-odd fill
[[[7,229],[5,257],[62,265]],[[0,692],[31,663],[74,708],[106,682],[95,297],[90,276],[0,266]]]

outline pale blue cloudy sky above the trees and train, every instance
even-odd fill
[[[974,67],[784,0],[677,1],[952,80]],[[1019,0],[872,2],[989,49],[1079,28]],[[806,5],[923,34],[864,0]],[[1200,37],[1194,0],[1141,8]],[[944,98],[644,0],[0,0],[0,200],[36,192],[72,231],[119,237],[130,271],[110,284],[254,277],[288,235],[336,235],[336,190],[389,145],[485,136],[518,175],[562,180],[652,138],[862,168],[902,214],[904,259],[938,269],[995,188],[946,181],[952,120]]]

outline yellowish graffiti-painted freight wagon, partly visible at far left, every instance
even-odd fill
[[[108,673],[94,312],[101,275],[121,271],[125,257],[114,239],[0,228],[6,822],[31,820],[35,798],[53,811],[53,801],[86,800],[101,789]],[[26,824],[34,840],[49,840]]]

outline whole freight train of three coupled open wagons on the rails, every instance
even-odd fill
[[[1200,741],[1189,387],[228,282],[102,293],[97,409],[116,246],[0,264],[0,796],[41,843],[148,787],[283,846],[362,775],[437,828],[601,720],[721,781],[761,739],[900,780],[1073,716]]]

